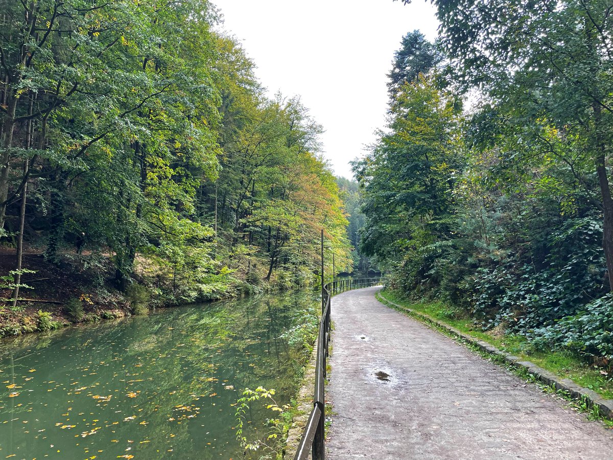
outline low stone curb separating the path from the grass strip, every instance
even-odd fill
[[[479,348],[479,350],[484,351],[485,353],[500,356],[502,359],[504,359],[504,361],[511,364],[511,366],[525,369],[528,374],[534,375],[545,385],[555,385],[555,388],[558,390],[568,391],[569,395],[574,399],[585,399],[585,401],[587,401],[590,407],[598,407],[600,415],[613,420],[613,399],[603,399],[603,397],[601,397],[598,393],[592,391],[591,389],[583,388],[582,386],[579,386],[574,383],[574,381],[568,380],[568,378],[562,378],[558,375],[552,374],[552,372],[549,372],[549,370],[545,370],[542,367],[536,366],[536,364],[534,364],[533,362],[521,361],[520,358],[518,358],[517,356],[513,356],[510,353],[506,353],[506,351],[502,351],[499,348],[494,347],[487,342],[484,342],[483,340],[475,339],[471,335],[465,334],[458,329],[448,326],[442,321],[432,318],[432,316],[416,312],[413,309],[409,309],[409,307],[398,305],[395,302],[389,301],[385,298],[383,300],[387,302],[387,304],[394,305],[394,307],[397,307],[400,310],[405,310],[406,312],[411,313],[411,315],[416,316],[425,323],[434,324],[438,328],[444,329],[452,335],[455,335],[455,337],[458,337],[462,340],[466,340],[466,342],[475,345]]]

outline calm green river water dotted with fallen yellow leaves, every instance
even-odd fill
[[[242,389],[297,391],[311,294],[254,296],[0,341],[0,459],[242,458]],[[249,439],[271,416],[251,404]]]

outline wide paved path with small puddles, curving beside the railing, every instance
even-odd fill
[[[385,307],[378,289],[332,299],[329,459],[613,459],[613,430]]]

